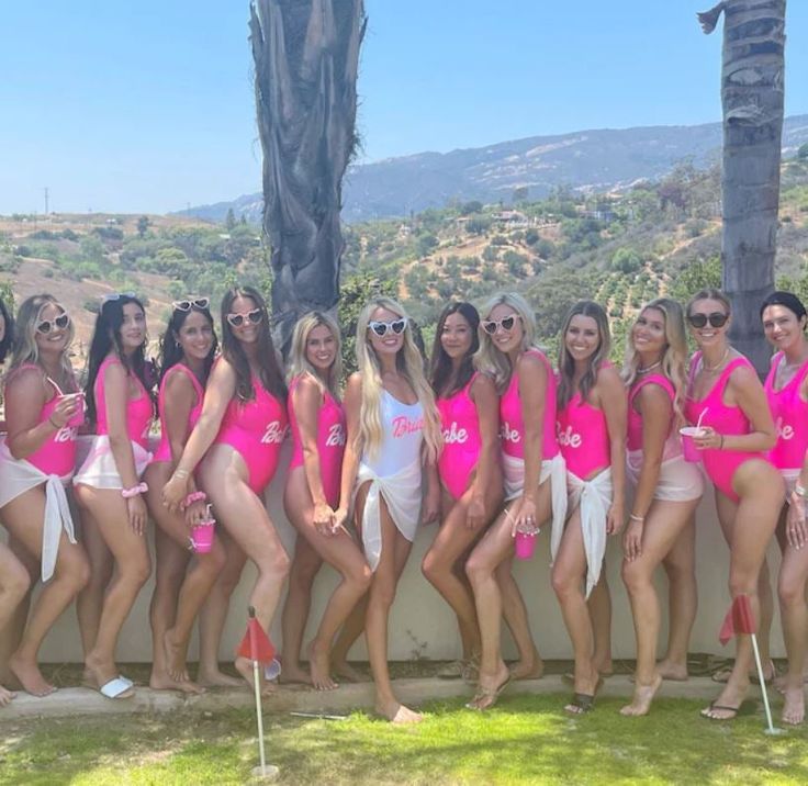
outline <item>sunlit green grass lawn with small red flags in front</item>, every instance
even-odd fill
[[[702,701],[660,699],[622,718],[620,699],[566,716],[564,697],[504,697],[479,715],[460,700],[408,728],[267,716],[268,761],[285,784],[806,784],[808,731],[763,734],[761,712],[732,723]],[[0,715],[0,718],[2,716]],[[243,784],[258,763],[254,717],[119,716],[0,722],[0,784]]]

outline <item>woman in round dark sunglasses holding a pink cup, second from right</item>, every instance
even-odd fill
[[[715,485],[718,520],[730,547],[730,594],[749,595],[760,620],[759,577],[785,490],[779,473],[764,456],[776,442],[766,395],[752,364],[727,340],[730,318],[729,301],[718,290],[702,290],[687,305],[687,322],[698,351],[691,360],[685,417],[694,425],[702,418],[705,429],[695,441]],[[763,654],[765,663],[768,653]],[[711,720],[734,718],[752,667],[750,638],[739,636],[729,681],[702,715]]]

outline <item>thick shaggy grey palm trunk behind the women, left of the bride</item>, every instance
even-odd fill
[[[333,308],[344,248],[343,176],[357,147],[362,0],[252,0],[263,229],[272,310],[285,346],[298,317]]]

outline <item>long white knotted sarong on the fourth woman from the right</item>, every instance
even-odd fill
[[[581,534],[586,554],[586,597],[601,577],[603,558],[606,555],[606,514],[611,507],[611,468],[605,469],[591,481],[582,481],[572,472],[566,473],[570,492],[569,507],[581,506]],[[561,546],[564,526],[553,521],[550,537],[550,557],[554,561]]]

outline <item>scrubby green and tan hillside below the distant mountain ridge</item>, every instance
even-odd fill
[[[397,295],[427,341],[449,299],[481,303],[494,292],[518,290],[532,303],[547,344],[574,300],[603,303],[619,355],[620,336],[643,302],[662,293],[685,300],[705,284],[720,283],[720,172],[682,165],[656,182],[619,192],[557,189],[507,210],[469,200],[345,232],[347,300],[361,303],[380,288]],[[808,300],[808,160],[783,166],[776,266],[781,282]],[[246,223],[0,218],[0,285],[10,285],[18,303],[34,292],[57,294],[76,321],[79,355],[105,292],[143,295],[156,338],[172,300],[205,294],[215,304],[237,281],[265,292],[271,287],[267,249]]]

